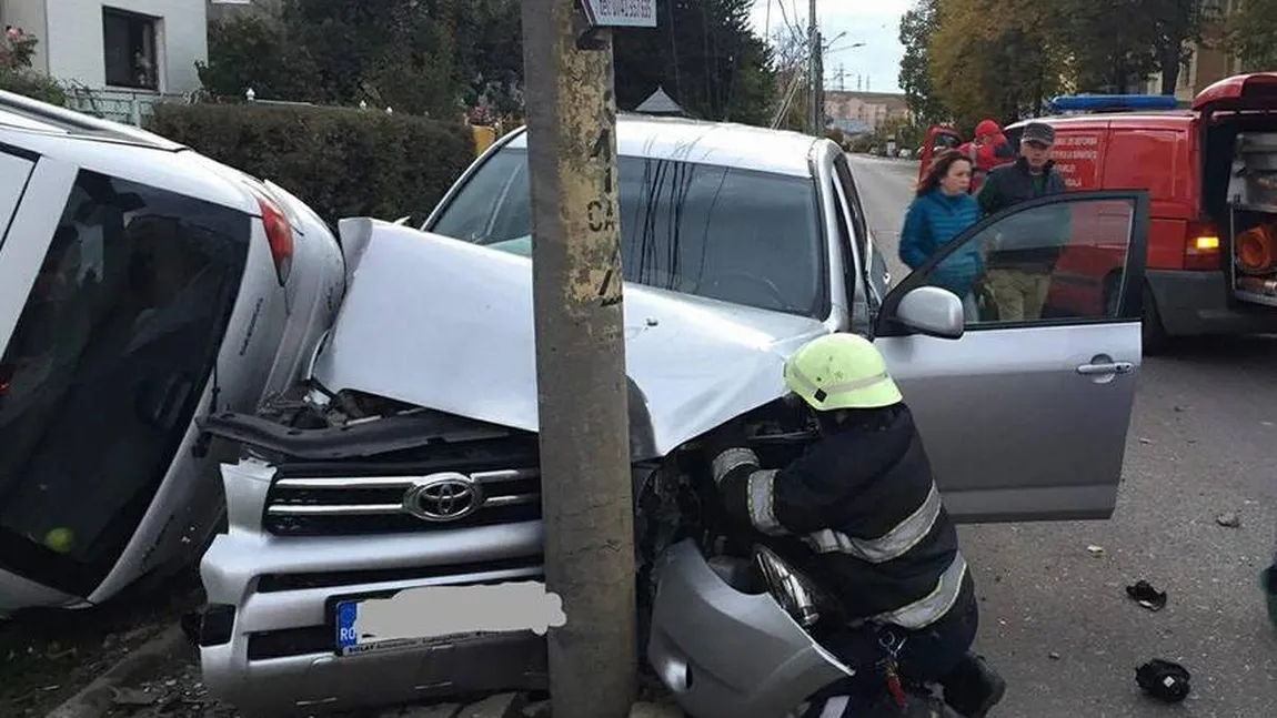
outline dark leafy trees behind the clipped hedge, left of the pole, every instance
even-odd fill
[[[517,102],[517,0],[281,0],[212,23],[213,94],[358,105],[452,116],[479,97]]]

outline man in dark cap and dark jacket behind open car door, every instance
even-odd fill
[[[1064,177],[1055,171],[1051,148],[1055,128],[1029,122],[1020,136],[1020,157],[994,168],[976,194],[987,217],[1039,196],[1065,191]],[[1039,319],[1051,287],[1051,272],[1068,242],[1068,213],[1039,212],[1023,217],[1004,230],[990,247],[986,284],[997,305],[999,321]]]

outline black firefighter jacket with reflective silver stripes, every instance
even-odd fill
[[[971,576],[908,407],[872,416],[782,469],[739,444],[715,451],[714,480],[729,517],[815,553],[803,568],[849,620],[917,630],[953,608]]]

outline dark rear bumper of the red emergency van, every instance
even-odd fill
[[[1277,332],[1277,310],[1230,301],[1223,272],[1149,269],[1144,275],[1168,335]]]

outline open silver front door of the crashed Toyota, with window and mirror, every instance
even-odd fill
[[[1143,190],[1022,203],[886,296],[875,343],[955,518],[1112,515],[1142,358],[1148,216]],[[976,247],[987,273],[964,307],[930,284]]]

